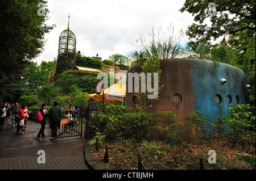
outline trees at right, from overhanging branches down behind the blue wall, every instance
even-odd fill
[[[199,50],[201,45],[210,45],[209,47],[213,49],[214,46],[217,47],[216,57],[219,57],[219,53],[225,55],[220,57],[221,62],[231,63],[245,72],[246,81],[251,85],[250,102],[255,103],[255,77],[253,78],[255,75],[255,66],[253,66],[255,65],[255,1],[210,2],[186,0],[180,9],[181,12],[188,11],[195,15],[195,22],[199,22],[199,24],[193,23],[186,31],[189,44],[192,46],[189,48]],[[209,3],[216,5],[216,9],[210,7]],[[212,13],[213,11],[216,15]],[[203,24],[207,19],[212,23],[210,26]],[[217,40],[217,38],[222,38],[221,43],[212,45],[212,39]],[[205,52],[205,49],[201,50]]]

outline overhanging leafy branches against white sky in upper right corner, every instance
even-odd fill
[[[237,32],[247,30],[247,36],[252,37],[255,33],[255,1],[213,1],[216,9],[209,6],[212,1],[186,0],[181,12],[188,11],[195,15],[195,22],[188,27],[187,35],[191,38],[207,39],[213,37],[215,40],[224,35],[235,35]],[[216,15],[213,14],[213,11]],[[212,25],[207,27],[203,24],[210,18]]]

